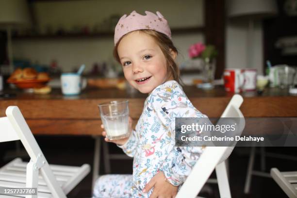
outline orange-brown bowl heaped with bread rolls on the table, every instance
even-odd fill
[[[7,79],[8,83],[14,83],[20,89],[41,88],[49,82],[49,74],[37,72],[33,68],[17,68]]]

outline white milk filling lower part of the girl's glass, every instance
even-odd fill
[[[110,140],[127,137],[129,135],[128,117],[128,114],[112,116],[101,115],[106,137]]]

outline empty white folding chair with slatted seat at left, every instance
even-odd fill
[[[66,198],[90,172],[90,165],[49,165],[18,107],[9,106],[6,115],[0,117],[0,142],[20,140],[31,160],[16,158],[1,167],[0,187],[37,188],[37,195],[26,198]]]

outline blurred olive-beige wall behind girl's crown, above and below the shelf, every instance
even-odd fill
[[[63,27],[71,30],[74,26],[94,27],[112,14],[130,14],[136,10],[160,11],[171,28],[198,27],[204,22],[203,0],[76,0],[76,1],[37,1],[33,4],[38,31],[45,33],[47,27],[57,30]],[[169,6],[170,5],[170,6]],[[144,9],[146,8],[146,9]],[[178,62],[188,59],[187,49],[195,42],[203,42],[201,33],[173,35],[173,41],[180,54]],[[64,71],[86,64],[86,70],[95,62],[113,61],[113,37],[83,39],[38,39],[13,40],[14,57],[28,59],[32,63],[49,65],[57,60]]]

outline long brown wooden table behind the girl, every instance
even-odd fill
[[[223,87],[205,91],[195,86],[185,86],[184,91],[193,105],[209,117],[219,117],[232,93]],[[10,105],[20,108],[34,134],[100,135],[100,116],[97,105],[115,99],[129,99],[130,116],[135,125],[142,113],[147,94],[127,94],[117,89],[86,89],[79,96],[63,96],[60,89],[48,95],[24,93],[21,90],[4,90],[16,97],[0,98],[0,116]],[[241,111],[245,117],[297,117],[297,97],[288,90],[266,89],[261,96],[256,92],[241,94],[244,103]]]

